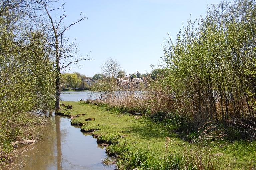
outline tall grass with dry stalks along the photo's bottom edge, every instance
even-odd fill
[[[221,158],[211,151],[199,152],[196,149],[185,149],[183,153],[166,152],[159,154],[152,151],[138,150],[118,160],[117,165],[122,169],[133,170],[226,170],[231,169],[223,164]]]

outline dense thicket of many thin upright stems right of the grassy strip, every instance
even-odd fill
[[[163,45],[164,71],[155,81],[162,108],[202,125],[250,122],[256,99],[256,1],[222,1]]]

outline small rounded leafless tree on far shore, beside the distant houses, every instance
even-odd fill
[[[115,78],[118,75],[120,64],[115,58],[108,58],[107,61],[102,64],[101,70],[107,77]]]

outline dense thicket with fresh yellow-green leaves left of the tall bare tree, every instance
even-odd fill
[[[0,4],[0,149],[19,135],[24,114],[53,108],[52,51],[47,32],[32,20],[36,8],[26,0]]]

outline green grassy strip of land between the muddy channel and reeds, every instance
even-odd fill
[[[64,115],[81,131],[92,132],[106,152],[117,156],[119,169],[255,169],[256,142],[187,142],[161,122],[120,113],[108,105],[63,102],[72,105]],[[81,115],[84,114],[84,115]],[[78,116],[77,116],[78,115]]]

